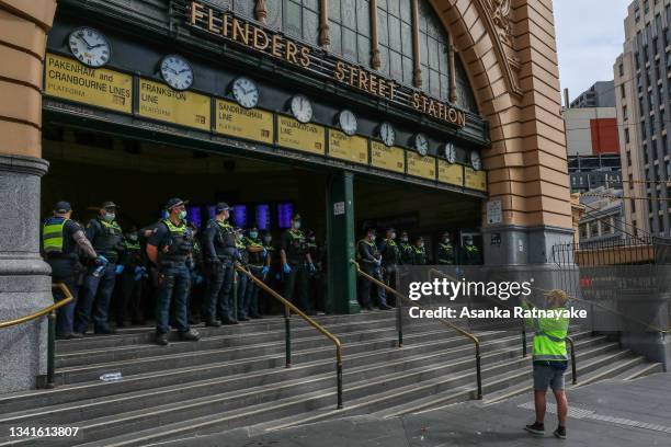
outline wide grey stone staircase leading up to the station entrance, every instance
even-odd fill
[[[198,328],[197,343],[156,346],[151,328],[58,342],[58,387],[0,394],[0,426],[69,425],[83,433],[49,445],[145,446],[239,427],[253,434],[359,414],[389,417],[476,397],[473,343],[439,322],[405,328],[399,349],[393,311],[317,320],[343,344],[342,410],[336,409],[332,343],[292,318],[293,366],[286,368],[284,319],[270,317]],[[527,391],[531,357],[522,357],[520,333],[476,334],[485,399]],[[661,371],[605,336],[572,336],[580,383]],[[100,380],[106,373],[123,379]],[[0,446],[39,443],[0,438]]]

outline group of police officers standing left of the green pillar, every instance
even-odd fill
[[[52,266],[53,282],[65,283],[77,298],[76,302],[59,309],[59,339],[81,337],[91,319],[96,334],[114,333],[107,323],[107,311],[117,275],[122,275],[117,325],[123,325],[129,306],[134,323],[141,323],[143,312],[138,308],[141,283],[151,272],[158,286],[156,342],[168,344],[171,326],[177,329],[181,340],[197,341],[200,334],[189,322],[189,305],[195,264],[200,261],[206,279],[201,311],[206,325],[237,324],[261,318],[259,287],[243,274],[238,275],[236,308],[235,265],[242,265],[255,277],[268,280],[275,251],[272,236],[266,233],[261,240],[258,230],[252,228],[243,239],[241,231],[228,222],[228,205],[219,203],[215,206],[214,218],[196,238],[196,229],[185,220],[185,204],[180,198],[171,198],[164,207],[168,217],[140,231],[146,238],[144,251],[138,231],[133,228],[124,234],[116,222],[116,204],[103,203],[86,230],[70,219],[69,203],[59,202],[54,206],[54,216],[43,225],[43,253]],[[308,302],[308,275],[317,271],[312,261],[316,248],[314,233],[308,240],[300,230],[300,216],[294,215],[292,228],[280,241],[276,268],[284,275],[284,296],[307,313],[315,313]],[[321,263],[319,265],[321,267]],[[195,283],[198,283],[197,275]]]

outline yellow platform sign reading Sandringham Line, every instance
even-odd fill
[[[274,121],[271,112],[244,108],[230,101],[217,100],[216,131],[231,137],[273,144]]]

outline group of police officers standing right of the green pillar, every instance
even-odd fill
[[[357,243],[356,257],[361,268],[369,276],[386,284],[391,288],[398,288],[398,266],[399,265],[427,265],[429,260],[424,248],[424,238],[417,237],[411,244],[408,232],[403,231],[400,242],[396,242],[396,230],[389,228],[385,238],[376,243],[376,230],[366,230],[363,239]],[[481,264],[479,249],[475,245],[473,237],[464,238],[462,250],[452,244],[450,232],[443,233],[436,250],[437,265],[478,265]],[[359,280],[359,302],[363,309],[372,310],[371,283],[366,278]],[[375,286],[375,301],[379,309],[389,310],[391,307],[383,287]]]

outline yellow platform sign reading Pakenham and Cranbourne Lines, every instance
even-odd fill
[[[117,112],[133,112],[133,77],[90,68],[75,59],[46,55],[46,94]]]

